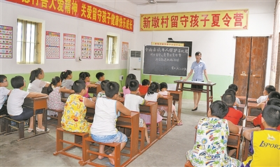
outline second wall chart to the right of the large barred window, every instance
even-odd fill
[[[76,35],[63,34],[63,58],[75,59],[76,55]]]

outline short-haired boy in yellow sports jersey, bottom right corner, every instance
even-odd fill
[[[241,167],[280,166],[280,132],[276,130],[280,124],[279,120],[280,107],[269,105],[262,111],[262,124],[265,130],[253,128],[243,132],[243,136],[251,140],[249,151],[252,155],[243,162]]]

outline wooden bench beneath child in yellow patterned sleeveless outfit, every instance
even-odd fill
[[[69,133],[74,136],[74,142],[70,142],[67,140],[64,140],[63,133]],[[82,159],[82,156],[78,156],[75,154],[71,154],[70,152],[66,152],[67,150],[71,149],[72,147],[80,147],[83,148],[83,140],[88,136],[88,133],[76,133],[76,132],[70,132],[70,131],[64,131],[62,127],[57,128],[57,147],[56,152],[53,153],[53,155],[57,154],[63,154],[68,157],[74,158],[74,159]],[[63,147],[63,143],[69,144],[68,147]]]

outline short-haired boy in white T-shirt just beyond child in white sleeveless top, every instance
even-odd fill
[[[145,99],[143,99],[141,96],[137,95],[137,92],[139,91],[139,82],[138,80],[130,80],[130,85],[128,85],[130,88],[130,94],[127,94],[125,97],[125,107],[129,110],[140,112],[139,105],[144,105],[144,103],[147,103]],[[150,143],[150,138],[148,138],[148,129],[146,126],[146,123],[144,119],[139,117],[139,127],[145,128],[145,138],[147,140],[147,143]]]

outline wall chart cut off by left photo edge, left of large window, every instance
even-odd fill
[[[13,27],[0,25],[0,58],[13,58]]]

